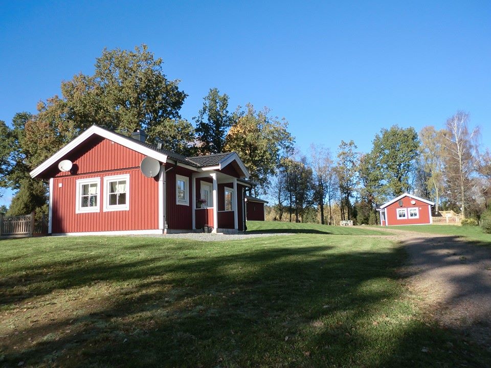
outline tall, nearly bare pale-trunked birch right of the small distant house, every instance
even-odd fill
[[[474,174],[479,168],[478,136],[479,129],[468,129],[469,116],[463,111],[447,120],[443,133],[443,160],[445,165],[446,195],[461,215],[472,202],[472,196],[478,183]]]

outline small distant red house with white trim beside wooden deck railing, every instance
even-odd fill
[[[434,203],[404,193],[380,206],[380,223],[390,225],[423,225],[431,224],[431,206]]]

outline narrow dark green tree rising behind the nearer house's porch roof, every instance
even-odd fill
[[[203,98],[203,107],[198,116],[193,118],[201,154],[223,151],[225,136],[235,121],[235,114],[229,112],[228,106],[229,96],[220,95],[218,88],[210,88],[208,95]]]

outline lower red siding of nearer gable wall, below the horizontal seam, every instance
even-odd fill
[[[103,212],[104,177],[129,174],[129,210]],[[78,179],[101,178],[99,212],[75,213]],[[61,184],[61,187],[59,186]],[[53,180],[53,233],[82,233],[157,229],[158,181],[140,169],[56,177]]]

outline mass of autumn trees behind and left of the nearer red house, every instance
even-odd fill
[[[229,97],[210,88],[193,125],[181,116],[187,94],[179,83],[144,44],[104,49],[94,74],[63,81],[61,96],[41,100],[35,114],[16,113],[10,125],[0,121],[0,188],[16,192],[8,215],[47,213],[47,183],[29,172],[93,124],[128,136],[144,129],[148,143],[186,156],[235,151],[260,193],[292,150],[287,121],[251,104],[231,112]]]

